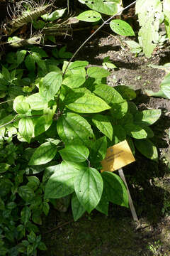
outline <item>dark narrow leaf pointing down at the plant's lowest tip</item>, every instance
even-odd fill
[[[86,209],[79,202],[76,193],[72,194],[72,213],[74,221],[77,221],[84,213]]]

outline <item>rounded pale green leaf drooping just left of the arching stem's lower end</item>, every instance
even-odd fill
[[[40,95],[46,100],[54,100],[54,96],[60,90],[62,85],[62,74],[50,72],[40,81]]]

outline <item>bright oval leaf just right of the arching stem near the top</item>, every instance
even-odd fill
[[[114,19],[110,22],[111,30],[120,36],[135,36],[130,24],[120,19]]]

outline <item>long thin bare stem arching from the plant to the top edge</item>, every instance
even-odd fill
[[[101,26],[99,26],[96,31],[94,31],[94,33],[91,34],[91,36],[89,36],[89,38],[87,38],[84,43],[81,44],[81,46],[79,46],[79,48],[75,51],[74,55],[72,55],[72,58],[69,60],[69,63],[67,64],[65,70],[64,70],[64,73],[62,75],[62,77],[64,77],[68,67],[69,67],[69,64],[72,62],[72,60],[74,59],[74,57],[77,55],[77,53],[79,53],[79,50],[81,50],[81,48],[104,26],[106,25],[106,23],[108,23],[109,21],[111,21],[115,16],[117,16],[118,14],[120,14],[122,11],[125,11],[126,9],[128,9],[130,6],[132,6],[133,4],[135,4],[136,1],[133,1],[132,4],[129,4],[128,6],[126,6],[125,8],[123,8],[123,10],[121,11],[118,11],[117,14],[114,14],[113,16],[111,16],[110,18],[108,18],[106,21],[104,21]]]

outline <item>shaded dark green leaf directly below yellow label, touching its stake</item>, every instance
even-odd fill
[[[103,193],[108,201],[128,207],[128,192],[122,179],[111,171],[103,171]]]

